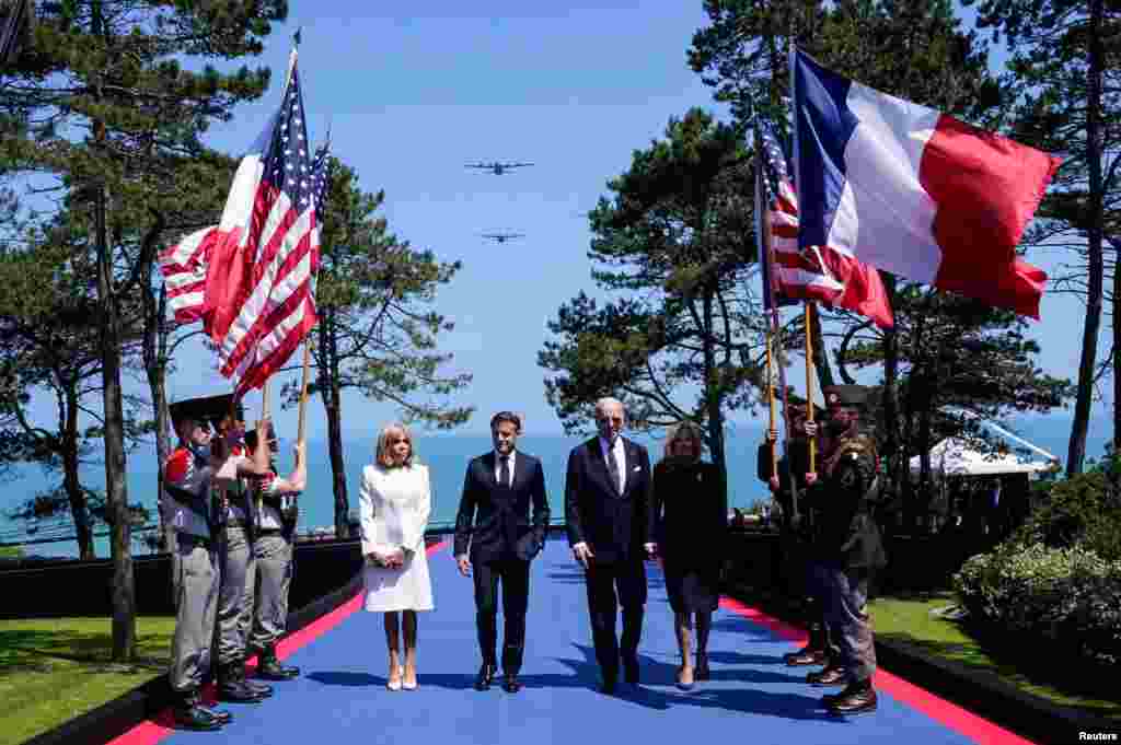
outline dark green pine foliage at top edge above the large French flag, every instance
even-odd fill
[[[688,62],[716,99],[747,125],[786,121],[790,39],[822,64],[910,101],[988,118],[1000,86],[986,74],[988,50],[961,31],[948,0],[705,0],[710,25],[697,30]]]

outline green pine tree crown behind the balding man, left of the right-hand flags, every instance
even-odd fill
[[[736,131],[697,109],[632,153],[590,214],[595,283],[621,294],[602,307],[581,292],[563,305],[538,364],[566,431],[614,395],[631,425],[708,422],[717,462],[722,411],[761,385],[763,320],[744,283],[754,261],[751,153]],[[689,400],[692,397],[692,401]]]

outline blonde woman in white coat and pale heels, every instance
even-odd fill
[[[362,471],[359,493],[365,609],[383,613],[389,645],[389,690],[417,687],[417,611],[432,611],[432,580],[424,533],[432,511],[428,467],[414,460],[413,436],[388,425],[374,462]],[[405,664],[400,641],[405,636]]]

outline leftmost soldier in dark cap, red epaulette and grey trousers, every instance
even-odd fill
[[[185,729],[219,729],[232,717],[228,711],[204,707],[198,689],[210,673],[211,643],[221,586],[216,537],[224,519],[215,503],[213,481],[228,449],[221,437],[212,438],[207,420],[220,417],[228,397],[178,401],[168,407],[178,446],[164,464],[161,510],[175,531],[179,577],[176,583],[175,636],[168,682],[173,716]]]

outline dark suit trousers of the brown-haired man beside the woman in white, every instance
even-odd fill
[[[529,561],[504,557],[474,562],[475,625],[483,662],[497,664],[498,593],[502,585],[502,671],[517,674],[526,650],[526,611],[529,607]]]

